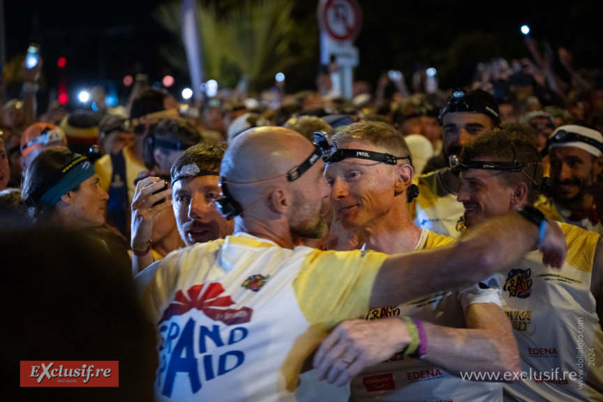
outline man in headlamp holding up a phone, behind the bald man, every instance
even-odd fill
[[[171,190],[159,177],[137,183],[132,202],[133,273],[138,274],[154,262],[151,237],[162,211],[173,207],[176,225],[186,246],[224,239],[232,234],[233,223],[216,211],[220,197],[218,177],[226,147],[201,143],[186,149],[172,165]],[[172,200],[167,200],[172,195]],[[162,202],[162,200],[165,200]]]

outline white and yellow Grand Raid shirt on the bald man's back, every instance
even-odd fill
[[[366,313],[385,258],[244,233],[170,253],[135,280],[158,331],[156,398],[295,401],[327,332]]]

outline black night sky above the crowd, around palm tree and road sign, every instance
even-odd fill
[[[240,0],[242,1],[242,0]],[[218,12],[239,0],[203,0]],[[24,57],[29,43],[39,43],[45,60],[43,94],[52,96],[59,80],[57,59],[66,57],[69,88],[89,87],[94,80],[111,80],[120,101],[128,94],[121,81],[127,74],[147,73],[151,82],[171,73],[179,94],[188,86],[160,56],[173,38],[152,16],[159,0],[42,1],[5,0],[7,61]],[[548,42],[556,52],[567,47],[574,66],[599,69],[603,61],[601,18],[603,1],[408,1],[359,0],[364,14],[359,47],[358,80],[375,84],[380,73],[402,70],[407,84],[419,65],[438,69],[440,87],[466,84],[478,62],[493,57],[528,57],[519,28],[528,24],[539,46]],[[314,87],[318,64],[318,1],[297,1],[292,18],[302,27],[315,59],[285,71],[287,91]],[[313,68],[308,68],[308,65]],[[563,77],[563,69],[556,66]],[[17,84],[6,83],[9,91]],[[13,94],[13,96],[16,96]],[[72,96],[73,98],[73,96]],[[40,100],[43,106],[44,100]]]

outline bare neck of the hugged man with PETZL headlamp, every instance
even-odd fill
[[[406,208],[406,206],[404,206]],[[366,248],[386,254],[412,251],[421,238],[422,230],[412,222],[410,214],[387,214],[373,225],[362,228]]]

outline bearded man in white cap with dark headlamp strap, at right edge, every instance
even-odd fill
[[[574,124],[560,126],[548,142],[553,191],[535,207],[556,221],[603,234],[603,135]]]

